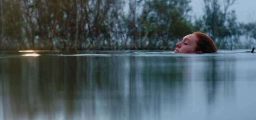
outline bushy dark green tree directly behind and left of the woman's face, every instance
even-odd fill
[[[142,39],[148,48],[172,48],[178,39],[190,34],[190,0],[147,0],[140,16]]]

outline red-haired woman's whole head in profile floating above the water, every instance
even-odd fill
[[[213,40],[202,32],[194,32],[176,44],[174,53],[216,53]]]

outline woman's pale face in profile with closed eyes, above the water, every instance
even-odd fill
[[[176,44],[174,53],[197,53],[196,52],[196,41],[197,37],[194,34],[187,35],[182,41]]]

